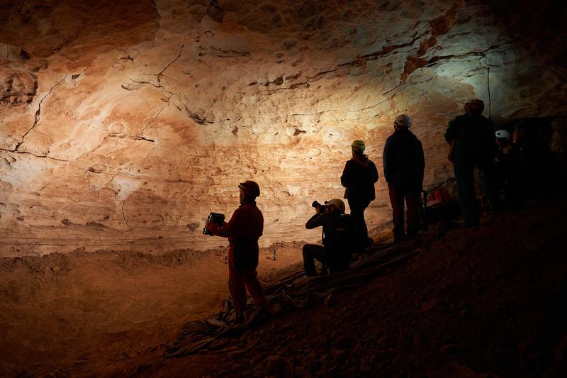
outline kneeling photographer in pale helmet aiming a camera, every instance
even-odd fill
[[[341,199],[325,201],[325,205],[317,201],[312,205],[315,215],[305,228],[308,230],[322,227],[322,244],[303,245],[303,267],[308,277],[316,276],[315,260],[331,273],[344,272],[352,261],[351,253],[356,250],[357,228],[354,218],[344,213],[344,202]],[[324,273],[322,273],[324,274]]]

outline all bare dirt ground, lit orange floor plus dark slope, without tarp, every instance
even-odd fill
[[[419,254],[359,289],[179,359],[181,327],[228,296],[226,249],[0,262],[0,375],[565,377],[567,201],[478,228],[432,226]],[[271,282],[303,243],[262,250]]]

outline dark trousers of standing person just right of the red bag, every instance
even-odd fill
[[[454,160],[454,172],[459,194],[459,202],[461,203],[462,215],[465,218],[466,226],[478,225],[481,212],[478,209],[478,201],[476,200],[476,191],[474,189],[474,169],[478,167],[481,187],[483,188],[488,202],[488,207],[493,213],[498,208],[498,194],[495,186],[495,169],[491,162],[483,165],[472,165],[461,162],[459,159]]]

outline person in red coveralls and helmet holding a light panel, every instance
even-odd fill
[[[207,221],[206,228],[216,236],[228,238],[228,289],[235,308],[235,323],[245,321],[246,289],[254,304],[269,312],[262,284],[258,279],[258,238],[264,230],[264,216],[256,206],[260,187],[256,182],[245,181],[238,185],[240,206],[232,213],[228,223]]]

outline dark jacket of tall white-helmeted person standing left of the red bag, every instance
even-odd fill
[[[389,186],[399,190],[421,189],[425,170],[423,146],[410,130],[395,130],[386,139],[383,162]]]

